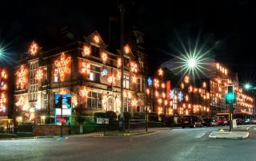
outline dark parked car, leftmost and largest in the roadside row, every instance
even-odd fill
[[[182,116],[181,118],[181,126],[182,128],[190,127],[190,128],[196,128],[196,127],[202,127],[201,119],[199,116]]]

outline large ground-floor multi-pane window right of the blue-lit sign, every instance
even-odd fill
[[[102,108],[102,93],[88,92],[87,108],[91,108],[91,109]]]

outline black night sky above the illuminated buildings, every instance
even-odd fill
[[[198,46],[214,48],[210,57],[238,72],[241,83],[255,81],[255,7],[253,0],[126,1],[126,30],[136,26],[146,34],[146,51],[154,64],[178,55],[175,48],[182,51],[178,37],[188,46],[199,34]],[[117,0],[4,0],[0,43],[10,44],[10,57],[26,52],[33,40],[50,49],[82,40],[94,30],[108,44],[109,16],[119,16]],[[118,24],[111,23],[112,46],[118,45]]]

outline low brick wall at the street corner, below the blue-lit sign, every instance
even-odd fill
[[[33,135],[44,136],[44,135],[61,135],[61,126],[58,125],[36,125],[33,128]],[[69,135],[69,127],[63,126],[63,135]]]

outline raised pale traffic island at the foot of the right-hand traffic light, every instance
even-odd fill
[[[213,131],[210,133],[209,138],[212,139],[246,139],[248,138],[250,128],[255,127],[255,125],[239,125],[237,128],[233,128],[230,132],[229,128],[219,128],[218,131]]]

